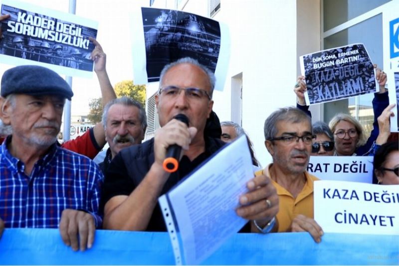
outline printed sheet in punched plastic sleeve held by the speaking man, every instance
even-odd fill
[[[242,136],[160,198],[177,264],[200,264],[247,223],[235,209],[253,176]]]

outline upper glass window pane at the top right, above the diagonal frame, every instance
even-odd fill
[[[390,0],[324,0],[324,31],[370,11]]]

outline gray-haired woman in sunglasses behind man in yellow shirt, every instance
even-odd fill
[[[318,121],[312,125],[313,139],[312,156],[332,156],[334,155],[334,135],[328,125],[322,121]]]

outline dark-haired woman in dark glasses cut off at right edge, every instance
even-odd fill
[[[374,156],[374,173],[381,185],[399,185],[398,142],[381,145]]]

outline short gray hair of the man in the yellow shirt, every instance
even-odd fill
[[[274,111],[273,113],[271,113],[271,115],[269,115],[269,117],[266,118],[263,128],[266,140],[272,139],[277,135],[278,130],[276,125],[279,121],[287,121],[291,123],[308,121],[310,125],[310,131],[312,131],[311,118],[304,111],[296,107],[289,106]]]

